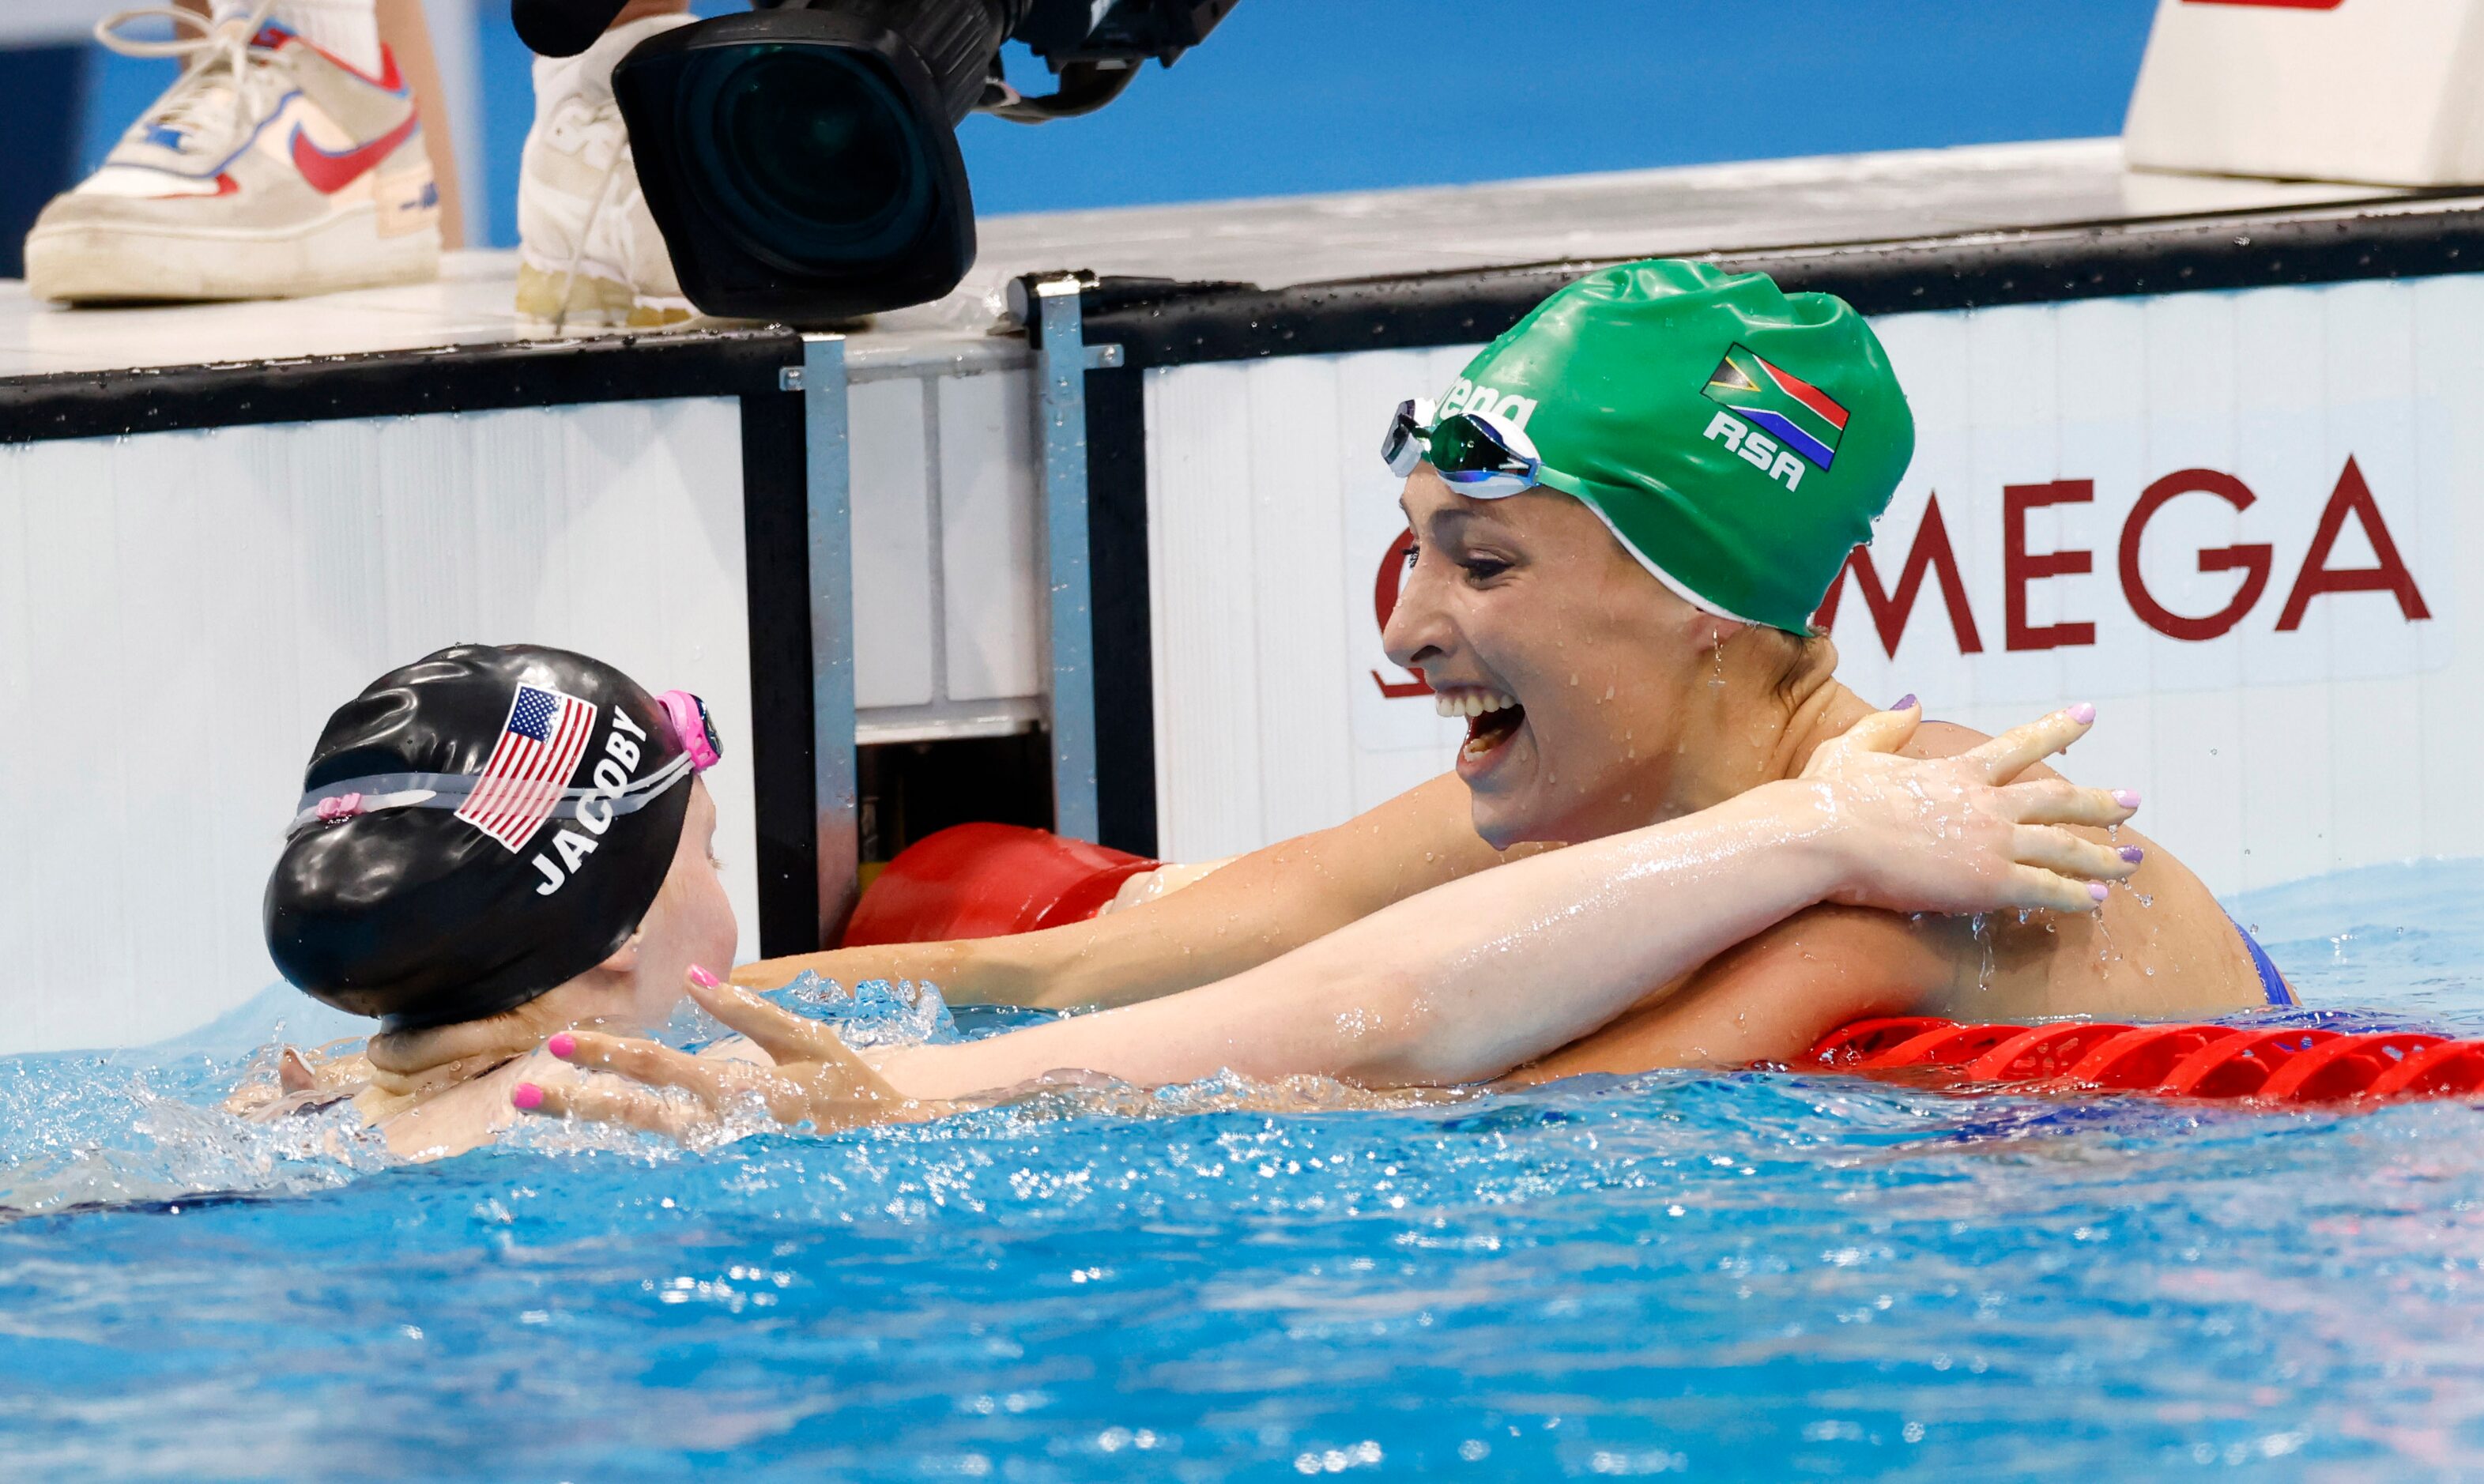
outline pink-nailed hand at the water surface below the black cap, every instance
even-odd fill
[[[529,1114],[626,1124],[676,1139],[750,1104],[765,1107],[780,1124],[810,1124],[820,1132],[944,1112],[897,1097],[879,1072],[817,1020],[782,1010],[745,988],[718,983],[698,968],[691,970],[688,988],[700,1010],[748,1035],[777,1065],[693,1057],[651,1040],[574,1030],[549,1037],[544,1050],[571,1067],[616,1072],[626,1082],[616,1077],[579,1077],[569,1084],[522,1082],[512,1102]],[[658,1092],[663,1087],[678,1087],[691,1099],[666,1097]]]

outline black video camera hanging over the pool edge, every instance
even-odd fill
[[[845,323],[934,300],[974,266],[956,124],[1103,107],[1237,0],[792,0],[666,30],[614,69],[646,203],[703,313]],[[512,0],[544,55],[594,45],[619,0]],[[999,50],[1063,77],[1021,99]]]

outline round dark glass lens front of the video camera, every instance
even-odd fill
[[[698,52],[681,114],[693,179],[787,266],[904,251],[934,208],[922,124],[872,65],[830,47]]]

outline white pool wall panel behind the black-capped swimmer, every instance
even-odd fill
[[[318,730],[457,640],[708,700],[755,948],[733,400],[0,447],[0,541],[27,720],[0,749],[0,1050],[159,1040],[273,983],[258,896]]]

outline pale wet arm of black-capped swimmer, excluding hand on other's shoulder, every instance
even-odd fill
[[[1468,876],[1177,1000],[892,1052],[907,1097],[1053,1070],[1160,1087],[1220,1070],[1366,1087],[1498,1077],[1838,888],[1813,794],[1769,784],[1702,814]]]

